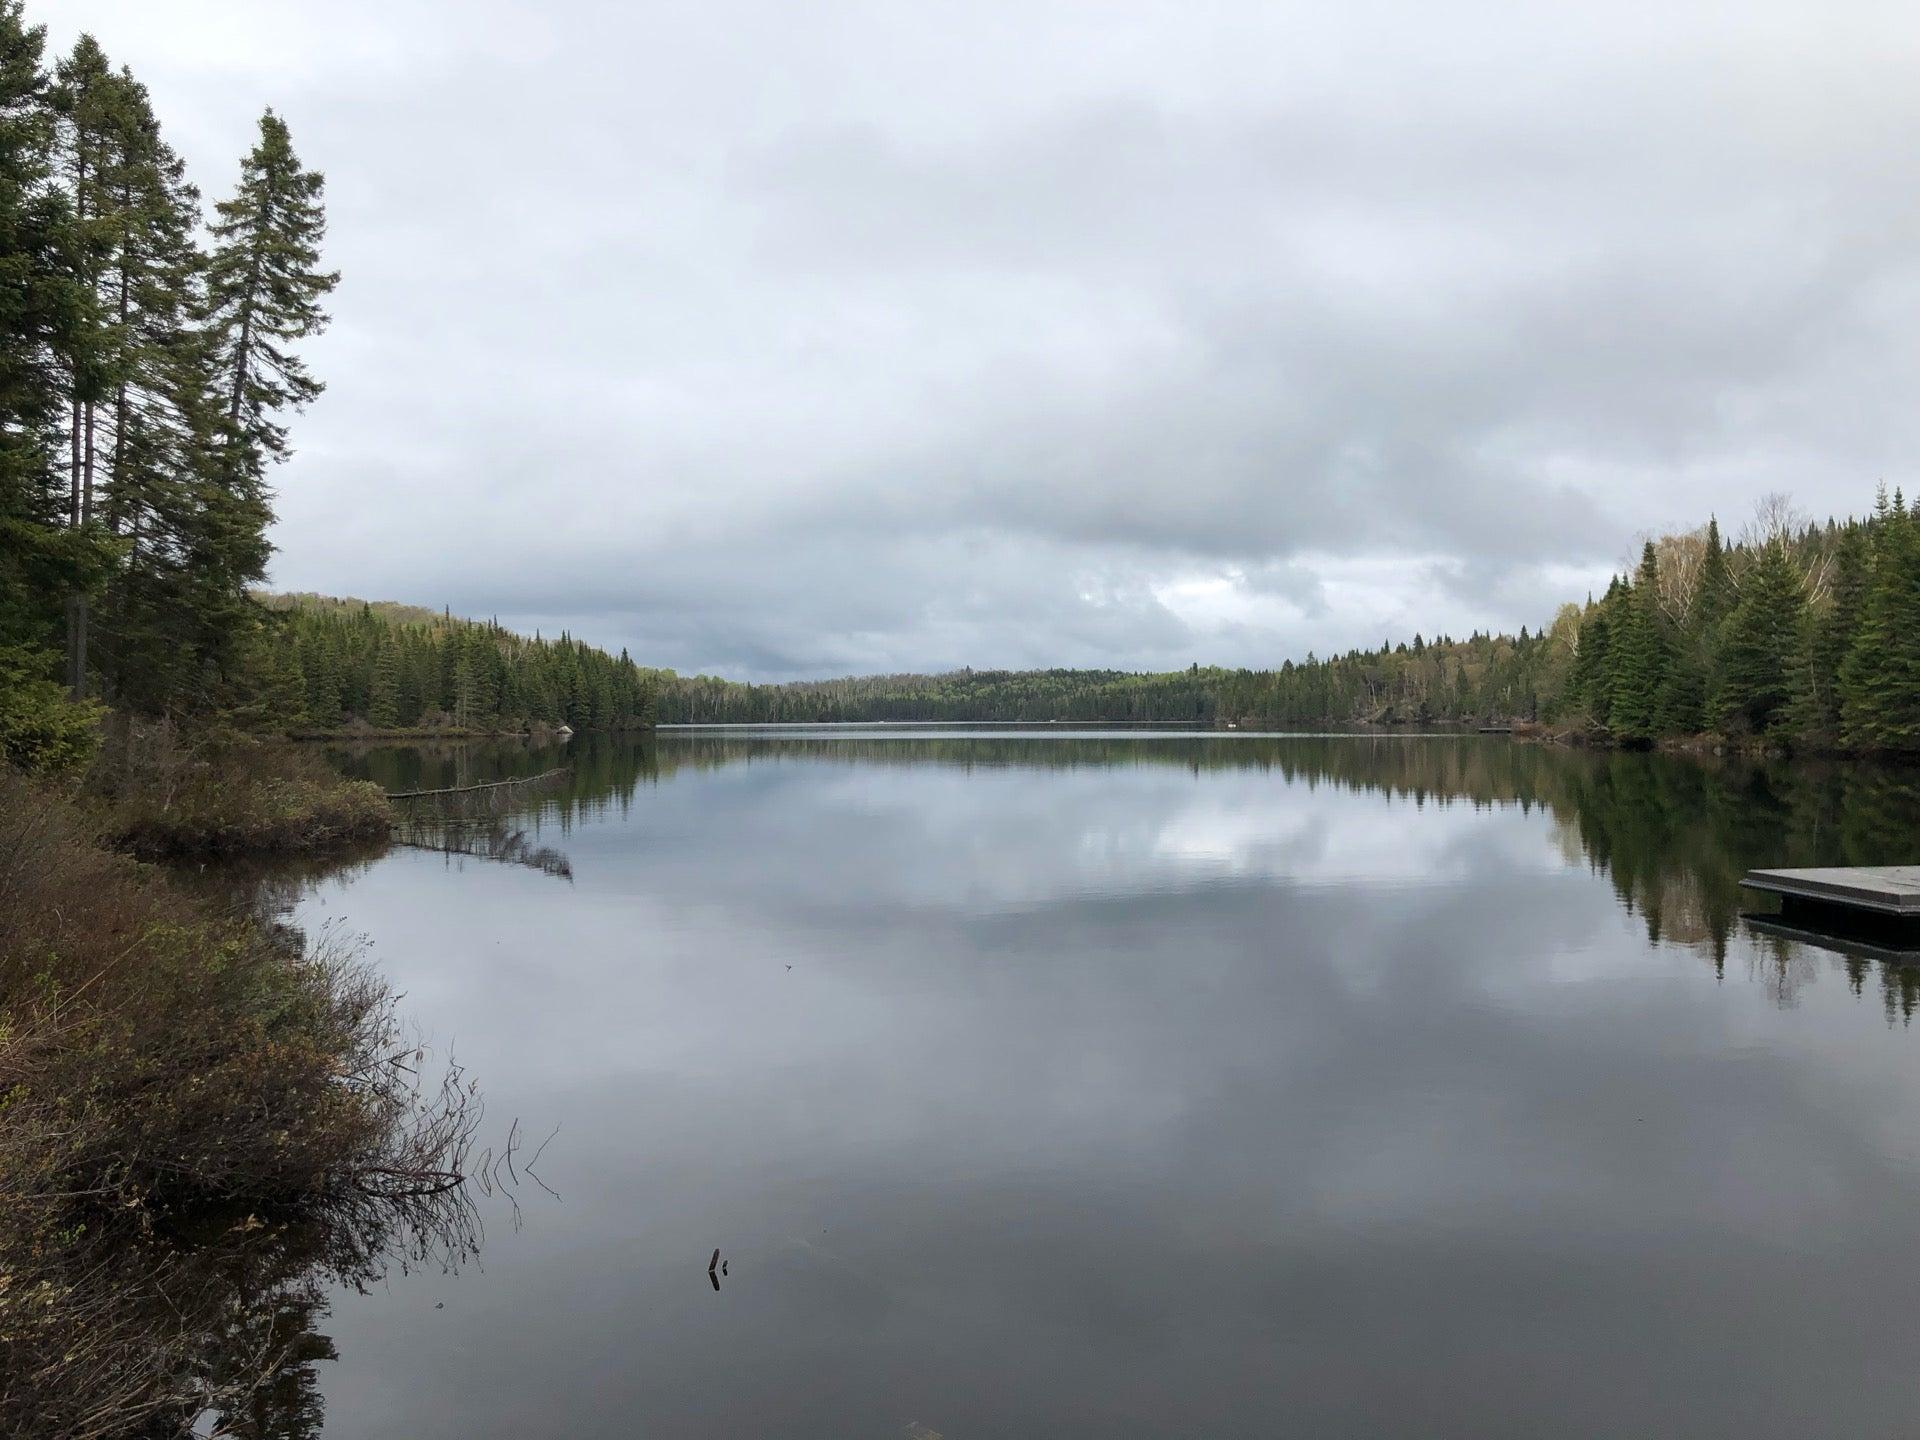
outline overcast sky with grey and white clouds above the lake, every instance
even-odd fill
[[[326,171],[273,580],[739,678],[1275,664],[1920,488],[1920,8],[29,0]]]

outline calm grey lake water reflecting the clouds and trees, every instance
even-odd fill
[[[1916,1432],[1914,972],[1736,881],[1920,776],[1058,730],[344,756],[574,776],[296,904],[559,1127],[326,1434]]]

